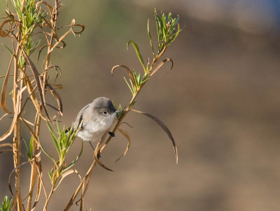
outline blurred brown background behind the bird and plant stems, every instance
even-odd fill
[[[122,125],[132,138],[130,151],[114,163],[126,145],[125,138],[116,133],[102,154],[102,162],[115,172],[99,166],[94,170],[85,196],[87,210],[280,210],[279,1],[63,3],[60,24],[68,24],[73,18],[85,24],[81,36],[69,35],[66,48],[52,54],[52,61],[62,69],[58,83],[64,87],[59,90],[64,116],[59,120],[66,127],[80,108],[98,96],[128,105],[125,71],[116,71],[112,78],[111,68],[125,64],[141,71],[133,48],[126,50],[129,40],[138,43],[145,61],[152,57],[146,24],[149,18],[155,38],[154,8],[179,14],[180,26],[185,27],[165,54],[173,59],[173,70],[167,73],[167,64],[155,74],[134,106],[167,124],[179,150],[178,165],[162,129],[153,120],[131,112],[125,122],[134,128]],[[5,2],[0,6],[3,11]],[[1,39],[1,43],[7,41]],[[4,75],[9,54],[5,48],[0,53],[0,72]],[[10,121],[1,121],[1,133]],[[23,138],[29,140],[27,129],[23,130]],[[46,131],[46,127],[41,131],[41,142],[55,154]],[[78,138],[71,148],[69,161],[78,154],[80,142]],[[42,160],[49,191],[47,171],[51,163],[44,154]],[[84,143],[76,166],[81,175],[91,162],[92,149]],[[12,166],[12,155],[0,154],[1,199],[10,194],[7,181]],[[22,168],[22,181],[29,181],[29,170],[29,166]],[[66,178],[48,210],[63,210],[77,186],[76,175]],[[22,195],[28,193],[28,187],[29,183]],[[43,193],[41,197],[44,201]],[[74,205],[72,210],[78,207]]]

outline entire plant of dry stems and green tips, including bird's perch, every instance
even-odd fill
[[[50,123],[55,122],[57,117],[62,116],[62,99],[60,98],[57,89],[62,89],[62,85],[56,84],[56,79],[62,74],[59,66],[53,64],[51,61],[51,54],[55,49],[62,49],[66,46],[64,38],[69,34],[81,34],[85,27],[83,24],[76,24],[75,20],[72,20],[71,24],[66,24],[62,26],[57,25],[57,19],[59,15],[59,10],[62,7],[62,2],[58,0],[52,1],[52,3],[47,3],[46,1],[35,1],[35,0],[10,0],[7,2],[7,8],[5,10],[6,17],[4,17],[3,22],[0,25],[0,36],[3,38],[10,39],[10,46],[5,45],[6,50],[10,53],[10,62],[8,64],[8,69],[6,75],[3,77],[3,86],[1,89],[1,108],[6,112],[1,121],[4,122],[6,117],[13,116],[13,122],[6,133],[1,136],[0,141],[6,140],[8,136],[13,134],[13,145],[10,143],[3,143],[0,147],[9,147],[1,152],[13,152],[14,170],[10,174],[8,180],[8,186],[10,187],[11,194],[13,194],[13,199],[6,196],[1,206],[1,210],[34,210],[37,208],[38,201],[41,199],[43,201],[44,197],[41,197],[41,191],[43,190],[43,195],[45,196],[45,203],[43,205],[43,210],[47,210],[48,203],[53,193],[59,187],[59,184],[64,180],[64,178],[72,173],[76,173],[79,177],[80,174],[73,166],[78,161],[81,153],[83,152],[83,145],[80,152],[77,153],[76,159],[73,159],[69,164],[65,163],[66,154],[69,151],[73,141],[76,138],[78,131],[73,131],[73,126],[70,131],[66,133],[64,127],[60,128],[57,123],[57,132],[55,132]],[[114,16],[114,13],[111,15]],[[115,14],[118,15],[118,14]],[[110,17],[108,17],[110,18]],[[113,18],[113,17],[112,17]],[[148,61],[144,61],[137,43],[134,41],[127,42],[127,50],[130,45],[134,48],[137,53],[137,57],[143,66],[143,73],[130,69],[125,65],[117,65],[112,68],[112,75],[116,68],[123,67],[128,73],[129,79],[125,79],[130,91],[132,92],[132,99],[129,106],[118,107],[118,118],[116,119],[116,124],[113,127],[113,132],[119,131],[125,138],[127,138],[128,143],[125,152],[120,157],[125,156],[130,147],[130,136],[126,131],[120,129],[119,126],[123,122],[123,119],[130,110],[134,112],[141,113],[155,120],[162,129],[167,133],[172,144],[174,146],[174,152],[176,156],[176,162],[178,162],[178,154],[176,150],[176,145],[172,133],[169,131],[167,126],[163,124],[160,119],[150,115],[146,112],[141,112],[139,110],[134,110],[132,107],[136,103],[136,98],[141,89],[144,87],[146,82],[151,79],[151,77],[160,68],[169,61],[171,63],[171,68],[173,66],[173,61],[170,58],[162,59],[165,51],[176,40],[181,29],[179,28],[179,17],[172,17],[172,13],[165,15],[165,13],[156,13],[155,11],[155,23],[158,31],[158,41],[153,43],[151,32],[149,29],[150,22],[148,21],[148,39],[151,44],[151,50],[153,53],[153,58],[148,58]],[[58,35],[62,34],[61,36]],[[36,34],[41,34],[42,41],[34,36]],[[35,65],[31,61],[30,56],[34,52],[37,53],[37,61],[41,56],[42,52],[45,52],[45,58],[43,59],[43,64]],[[42,71],[38,71],[37,66],[42,66]],[[53,72],[51,72],[53,71]],[[54,80],[49,81],[50,75]],[[55,76],[54,76],[55,75]],[[13,90],[11,90],[11,97],[13,101],[13,107],[8,108],[8,81],[13,82]],[[50,92],[53,99],[57,102],[57,106],[53,106],[45,98],[46,94]],[[33,106],[35,111],[34,122],[27,119],[25,107],[28,104]],[[52,110],[52,111],[50,111]],[[53,115],[53,112],[55,114]],[[40,129],[41,124],[46,123],[50,132],[50,137],[52,138],[52,143],[54,143],[57,150],[58,160],[53,157],[52,154],[46,152],[40,142]],[[22,129],[26,127],[30,134],[30,141],[26,143],[22,138]],[[80,177],[80,184],[73,196],[70,198],[69,203],[66,205],[64,210],[69,210],[76,200],[76,197],[80,193],[80,210],[83,210],[83,200],[85,192],[90,182],[92,175],[92,170],[96,163],[98,163],[103,168],[111,170],[106,167],[101,161],[99,161],[99,154],[101,154],[106,145],[111,140],[112,136],[106,138],[108,134],[104,133],[104,136],[97,147],[94,150],[94,161],[87,173],[82,178]],[[21,145],[22,140],[24,140],[25,147],[27,149],[28,161],[22,162],[21,156]],[[105,141],[106,140],[106,141]],[[49,194],[45,189],[46,182],[43,181],[43,171],[41,166],[41,151],[43,151],[53,162],[52,169],[48,172],[50,177],[51,189]],[[120,159],[119,158],[119,159]],[[118,159],[118,160],[119,160]],[[117,161],[118,161],[117,160]],[[29,180],[29,192],[22,197],[22,183],[27,183],[27,181],[20,180],[21,169],[20,166],[29,164],[30,170],[30,180]],[[15,191],[12,191],[11,178],[15,175],[14,187]],[[24,203],[24,200],[27,199]]]

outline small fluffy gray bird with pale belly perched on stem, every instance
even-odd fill
[[[96,141],[111,127],[116,117],[116,108],[110,99],[102,96],[94,99],[76,117],[73,129],[78,129],[78,136],[83,140]],[[81,125],[80,125],[81,124]],[[110,133],[112,136],[113,133]],[[90,143],[91,144],[91,143]]]

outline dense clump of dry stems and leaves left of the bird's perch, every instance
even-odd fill
[[[3,135],[1,134],[0,141],[6,140],[12,133],[17,134],[14,136],[12,149],[1,150],[1,152],[13,152],[14,169],[9,177],[9,187],[11,191],[11,178],[15,176],[15,195],[11,210],[22,210],[24,202],[21,197],[21,183],[20,183],[20,166],[25,164],[31,165],[30,172],[30,185],[29,194],[27,196],[26,210],[34,210],[38,205],[43,188],[47,200],[43,210],[47,210],[48,202],[52,196],[53,191],[58,187],[64,177],[71,173],[78,172],[72,169],[73,165],[78,161],[80,154],[83,152],[83,145],[80,153],[73,159],[71,163],[65,163],[66,153],[69,151],[73,140],[76,137],[77,131],[71,129],[71,133],[66,133],[64,128],[60,129],[57,124],[57,133],[50,127],[49,122],[54,122],[57,116],[62,116],[62,100],[57,93],[57,89],[62,89],[62,85],[56,85],[55,82],[49,82],[50,70],[55,70],[56,77],[61,75],[59,66],[52,64],[50,55],[57,48],[64,48],[66,43],[64,38],[69,34],[81,34],[85,27],[83,24],[76,24],[72,20],[70,24],[57,26],[57,18],[59,10],[62,7],[62,1],[42,1],[42,0],[10,0],[6,1],[7,8],[5,10],[6,17],[3,17],[0,24],[0,36],[3,38],[10,38],[10,47],[3,45],[10,53],[10,63],[3,77],[3,86],[1,89],[0,106],[4,112],[3,117],[13,115],[13,122],[10,128]],[[76,29],[79,28],[79,29]],[[64,30],[66,29],[66,30]],[[63,31],[62,35],[58,31]],[[34,36],[41,34],[43,44]],[[45,58],[43,59],[42,70],[39,71],[36,65],[30,59],[30,55],[38,49],[37,61],[43,50],[46,51]],[[13,70],[12,70],[13,69]],[[13,72],[12,72],[13,71]],[[12,72],[12,73],[11,73]],[[8,82],[13,82],[13,90],[11,90],[11,98],[13,100],[13,107],[7,108],[8,99]],[[50,93],[57,101],[57,106],[52,106],[45,99],[47,93]],[[26,107],[31,102],[34,109],[34,122],[29,122],[26,118]],[[48,108],[55,110],[55,115],[50,117]],[[3,119],[0,118],[0,120]],[[52,141],[57,149],[58,159],[55,160],[52,155],[43,150],[39,142],[39,135],[41,123],[48,122],[50,135]],[[21,142],[22,142],[22,124],[27,126],[31,135],[29,143],[26,143],[27,149],[27,162],[20,160]],[[0,147],[7,146],[1,144]],[[47,196],[43,184],[43,172],[41,166],[41,151],[45,152],[50,159],[54,162],[54,167],[50,170],[49,176],[52,182],[52,189]],[[34,189],[37,187],[37,189]],[[12,193],[13,194],[13,193]],[[36,197],[34,197],[36,196]],[[17,207],[17,208],[16,208]]]

